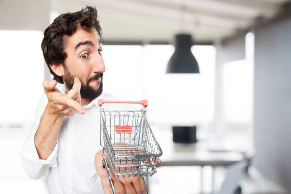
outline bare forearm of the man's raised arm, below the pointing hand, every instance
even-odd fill
[[[48,106],[45,108],[34,136],[35,147],[39,159],[47,160],[56,146],[63,118],[63,116],[49,113]]]

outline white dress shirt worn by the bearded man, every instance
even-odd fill
[[[90,104],[84,106],[86,113],[76,112],[65,116],[57,144],[47,160],[40,160],[34,136],[42,113],[48,104],[44,95],[37,107],[32,129],[25,142],[21,158],[29,177],[41,178],[48,170],[47,184],[49,194],[103,194],[99,176],[94,166],[94,158],[100,146],[100,112],[98,99],[120,100],[109,94],[101,94]],[[120,105],[120,104],[119,104]],[[113,107],[116,104],[104,104]]]

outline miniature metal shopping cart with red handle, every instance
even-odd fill
[[[123,104],[121,110],[102,107],[105,103]],[[157,172],[162,149],[147,122],[147,100],[106,101],[99,99],[100,145],[103,146],[103,167],[106,168],[112,193],[112,173],[115,177],[141,176],[147,193],[144,176]],[[142,110],[124,110],[124,104],[141,104]],[[131,105],[132,106],[132,105]],[[120,107],[119,107],[120,108]],[[106,160],[106,155],[108,161]],[[107,161],[107,162],[106,162]]]

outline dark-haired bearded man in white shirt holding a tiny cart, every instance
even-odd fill
[[[119,99],[102,93],[101,36],[97,10],[89,6],[58,16],[44,33],[41,47],[54,80],[43,82],[45,95],[21,158],[33,179],[49,170],[50,194],[111,194],[102,168],[98,99]],[[64,92],[57,82],[65,84]],[[118,194],[145,192],[140,177],[112,179]]]

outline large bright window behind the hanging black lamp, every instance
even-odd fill
[[[213,46],[194,46],[200,74],[165,74],[171,45],[103,46],[104,92],[149,101],[150,123],[211,122],[214,109]],[[175,92],[172,92],[174,89]]]

